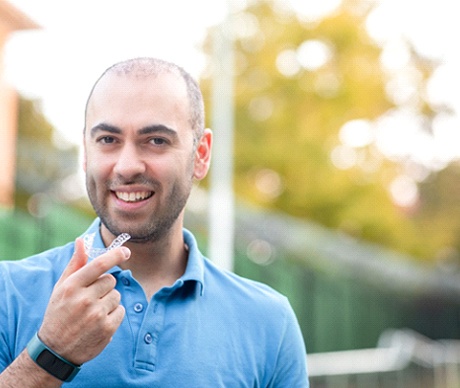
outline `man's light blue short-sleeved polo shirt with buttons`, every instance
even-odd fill
[[[96,233],[96,219],[86,233]],[[126,309],[113,340],[68,387],[308,387],[306,352],[287,299],[217,268],[184,230],[187,268],[150,301],[131,275],[109,272]],[[40,327],[74,243],[0,262],[0,371]],[[84,328],[82,328],[84,330]]]

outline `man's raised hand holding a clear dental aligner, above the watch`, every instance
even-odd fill
[[[130,254],[120,247],[88,264],[83,240],[76,240],[75,253],[54,287],[38,332],[48,347],[77,365],[102,352],[125,315],[116,280],[105,272]]]

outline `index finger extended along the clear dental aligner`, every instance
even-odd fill
[[[80,268],[80,270],[72,274],[72,276],[82,286],[89,286],[110,268],[128,260],[130,255],[131,251],[127,247],[110,250]]]

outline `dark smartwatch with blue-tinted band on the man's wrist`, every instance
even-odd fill
[[[80,371],[81,365],[75,365],[53,352],[40,340],[40,338],[38,338],[38,333],[35,333],[28,343],[27,351],[29,352],[30,358],[34,360],[39,367],[61,381],[72,381]]]

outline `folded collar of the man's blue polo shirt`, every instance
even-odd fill
[[[101,220],[96,218],[83,234],[84,236],[86,234],[94,233],[93,248],[105,248],[104,242],[102,241],[100,225]],[[188,261],[184,274],[177,281],[181,283],[195,281],[200,285],[200,295],[202,296],[204,293],[204,257],[198,248],[198,244],[193,234],[184,228],[183,236],[184,244],[188,249]],[[121,268],[115,266],[107,272],[116,274],[121,272]]]

